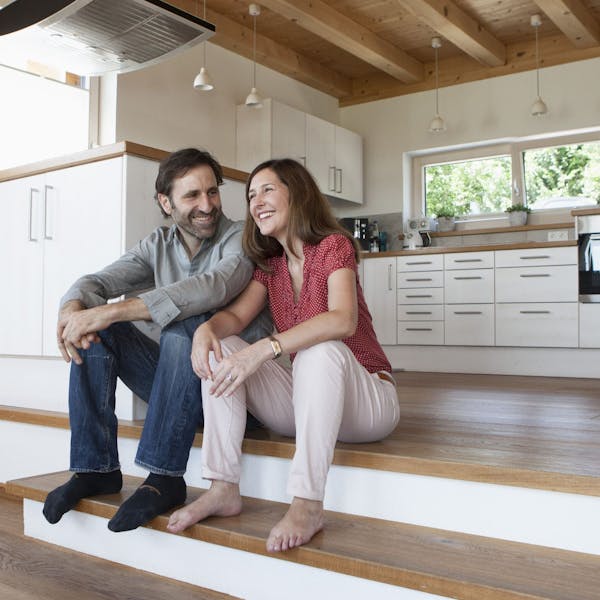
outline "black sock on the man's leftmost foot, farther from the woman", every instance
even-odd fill
[[[67,483],[48,494],[42,512],[49,523],[58,523],[82,498],[114,494],[122,486],[123,476],[119,470],[109,473],[75,473]]]

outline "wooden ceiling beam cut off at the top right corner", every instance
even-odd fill
[[[581,0],[534,0],[576,48],[600,45],[600,24]]]

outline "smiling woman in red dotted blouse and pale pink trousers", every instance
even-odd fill
[[[371,442],[397,425],[390,364],[358,283],[357,246],[299,163],[270,160],[246,185],[244,249],[254,278],[198,327],[192,366],[202,378],[203,476],[210,489],[171,516],[182,531],[210,515],[237,515],[246,409],[296,437],[293,497],[267,550],[308,542],[323,527],[323,496],[336,440]],[[237,334],[269,303],[278,333],[248,345]],[[292,367],[274,358],[290,354]]]

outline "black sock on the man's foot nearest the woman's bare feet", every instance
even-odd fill
[[[185,502],[183,477],[150,473],[146,481],[129,497],[108,522],[111,531],[130,531]]]

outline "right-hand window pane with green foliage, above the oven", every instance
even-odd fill
[[[523,170],[534,210],[600,203],[600,142],[526,150]]]

